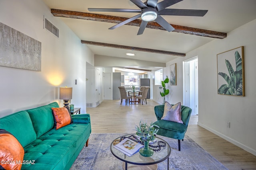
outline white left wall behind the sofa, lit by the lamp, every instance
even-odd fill
[[[59,29],[59,38],[44,29],[44,16]],[[59,87],[73,87],[72,104],[86,112],[86,61],[94,64],[88,47],[41,0],[1,0],[0,22],[42,43],[42,71],[0,66],[0,117],[58,102]],[[74,85],[74,80],[77,85]]]

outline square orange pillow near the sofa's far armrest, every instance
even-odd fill
[[[53,107],[52,111],[56,121],[56,130],[71,123],[71,117],[66,107]]]

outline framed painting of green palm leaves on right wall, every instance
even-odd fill
[[[218,94],[245,96],[244,46],[217,55]]]

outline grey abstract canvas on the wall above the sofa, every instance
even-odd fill
[[[41,71],[41,42],[0,22],[0,66]]]

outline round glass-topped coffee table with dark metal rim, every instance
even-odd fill
[[[134,135],[134,134],[125,135],[125,136],[129,137],[131,135]],[[163,139],[156,137],[156,142],[155,142],[156,145],[157,145],[158,141],[163,141],[166,143],[166,146],[161,147],[160,151],[154,151],[154,154],[150,157],[144,157],[144,156],[140,155],[139,152],[137,152],[136,154],[134,154],[132,156],[127,156],[123,152],[114,148],[114,145],[118,139],[120,139],[120,137],[116,138],[111,143],[110,150],[116,158],[118,158],[124,162],[123,168],[125,170],[127,170],[127,169],[129,169],[129,170],[132,170],[132,169],[134,169],[134,170],[139,170],[139,169],[153,170],[154,169],[154,170],[156,170],[157,169],[156,164],[158,164],[166,159],[168,161],[167,169],[169,170],[169,156],[171,154],[171,148],[168,145],[168,143],[166,141],[164,141]],[[154,144],[152,144],[152,145],[154,145]]]

